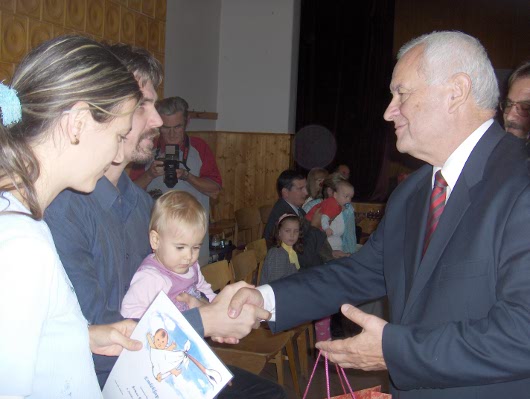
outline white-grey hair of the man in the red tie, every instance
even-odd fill
[[[479,108],[495,109],[499,86],[486,50],[472,36],[462,32],[432,32],[403,45],[398,59],[416,46],[423,46],[420,72],[429,84],[441,84],[457,73],[471,79],[471,95]]]

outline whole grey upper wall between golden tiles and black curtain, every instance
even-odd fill
[[[168,0],[166,95],[217,121],[189,130],[293,133],[300,0]]]

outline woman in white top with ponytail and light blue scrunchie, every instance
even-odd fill
[[[0,84],[0,396],[99,398],[90,351],[142,347],[125,336],[131,320],[88,326],[42,220],[62,190],[90,192],[122,162],[140,98],[134,76],[83,36],[41,44]]]

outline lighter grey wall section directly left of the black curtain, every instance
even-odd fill
[[[293,0],[223,0],[217,130],[294,132],[298,18]]]

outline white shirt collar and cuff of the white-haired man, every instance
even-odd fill
[[[475,148],[478,141],[482,138],[482,136],[484,136],[484,133],[486,133],[486,130],[489,129],[492,123],[493,119],[489,119],[480,125],[478,129],[471,133],[468,138],[465,139],[458,146],[458,148],[453,151],[441,168],[439,166],[433,166],[432,185],[434,186],[434,175],[440,169],[442,169],[442,175],[447,182],[448,187],[445,202],[449,200],[449,196],[451,195],[451,192],[455,187],[458,178],[460,177],[460,173],[462,173],[462,169],[464,169],[471,151],[473,151],[473,148]],[[268,284],[265,284],[258,287],[258,290],[261,292],[261,295],[264,299],[263,307],[272,314],[270,321],[276,321],[276,298],[274,296],[272,287]]]

